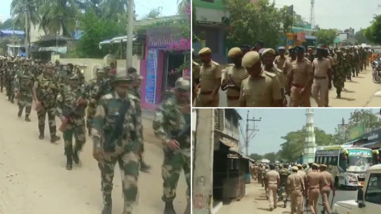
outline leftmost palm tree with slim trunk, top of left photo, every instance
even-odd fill
[[[37,7],[39,5],[39,0],[12,0],[11,2],[11,16],[13,17],[15,25],[23,26],[26,33],[26,39],[28,46],[31,45],[31,23],[36,25],[40,22],[40,17],[38,16]],[[25,29],[25,15],[27,16],[28,29]]]

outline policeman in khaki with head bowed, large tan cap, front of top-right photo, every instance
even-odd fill
[[[275,74],[262,69],[259,53],[247,52],[242,66],[248,75],[243,77],[241,84],[241,107],[281,107],[280,83]]]

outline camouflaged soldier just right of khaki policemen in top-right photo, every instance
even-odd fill
[[[346,59],[343,57],[343,52],[341,50],[336,51],[337,55],[335,57],[336,69],[333,76],[333,86],[336,88],[336,98],[341,98],[341,91],[344,88],[344,82],[346,79],[345,68]]]

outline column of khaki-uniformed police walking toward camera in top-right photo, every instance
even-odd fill
[[[358,46],[309,46],[307,53],[301,46],[288,51],[279,47],[277,52],[278,56],[274,49],[263,48],[262,41],[254,48],[235,47],[227,54],[232,64],[222,69],[212,60],[211,49],[201,49],[202,64],[193,62],[192,67],[193,105],[218,107],[221,87],[227,107],[311,107],[310,97],[318,107],[328,107],[332,82],[336,98],[341,99],[345,82],[365,70],[372,55],[370,49]]]

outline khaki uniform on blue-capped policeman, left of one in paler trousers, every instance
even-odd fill
[[[292,78],[291,94],[290,94],[290,107],[311,107],[310,91],[306,91],[304,94],[300,94],[301,90],[310,84],[310,77],[312,76],[311,63],[303,59],[301,62],[297,60],[291,63],[291,69],[289,78]]]

